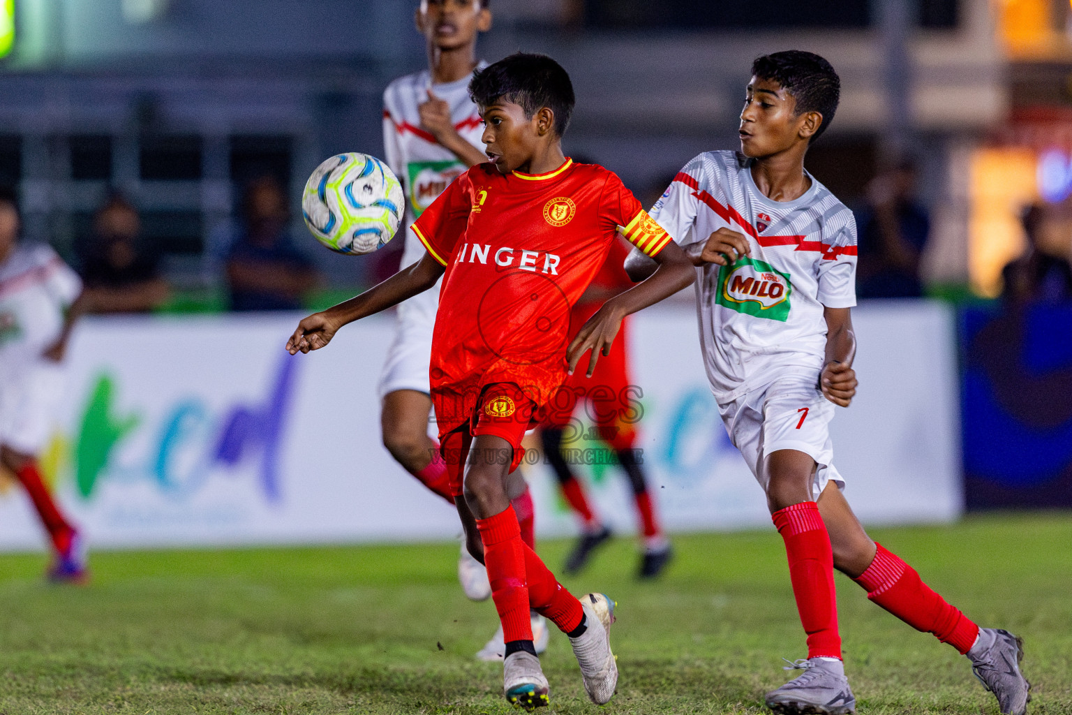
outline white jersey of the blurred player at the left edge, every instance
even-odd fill
[[[0,370],[36,360],[63,329],[81,279],[47,245],[18,245],[0,264]]]

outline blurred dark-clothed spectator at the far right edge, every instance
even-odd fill
[[[1013,304],[1072,300],[1072,224],[1038,205],[1025,209],[1021,222],[1027,251],[1001,270],[1002,298]]]

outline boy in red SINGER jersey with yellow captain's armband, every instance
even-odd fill
[[[512,55],[477,72],[470,92],[491,161],[459,176],[414,224],[427,253],[360,296],[301,321],[287,349],[323,347],[343,325],[444,277],[432,338],[432,403],[451,492],[464,495],[456,498],[458,513],[470,550],[488,568],[503,624],[505,696],[526,709],[549,702],[533,647],[532,607],[569,636],[589,697],[605,703],[617,683],[608,635],[613,604],[601,594],[578,600],[525,546],[506,478],[523,457],[524,432],[565,382],[570,308],[616,233],[658,268],[599,310],[600,330],[570,345],[574,366],[592,351],[589,374],[625,315],[688,285],[695,270],[616,176],[563,154],[574,90],[554,60]]]

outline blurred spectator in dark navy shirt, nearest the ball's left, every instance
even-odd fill
[[[253,181],[242,200],[244,223],[227,254],[230,308],[297,310],[318,277],[291,242],[286,196],[271,177]]]

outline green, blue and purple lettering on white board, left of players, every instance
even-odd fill
[[[70,472],[77,494],[87,501],[113,471],[124,478],[145,479],[164,495],[180,497],[197,491],[220,468],[234,471],[255,463],[260,493],[265,501],[277,503],[282,497],[280,447],[297,364],[288,355],[282,358],[259,403],[235,404],[218,415],[196,398],[173,404],[160,424],[152,426],[145,457],[121,470],[114,464],[117,451],[150,426],[140,415],[120,409],[119,385],[114,375],[102,372],[93,381],[77,433],[70,441],[57,436],[46,451],[46,471],[53,480]]]

